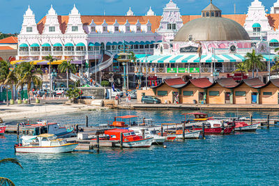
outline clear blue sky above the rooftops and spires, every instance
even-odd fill
[[[197,15],[209,4],[209,0],[173,0],[181,9],[181,15]],[[223,14],[234,13],[234,3],[236,3],[236,13],[247,13],[248,6],[252,0],[213,0],[213,3],[223,10]],[[276,0],[264,0],[264,6],[270,10]],[[23,15],[28,5],[36,15],[38,22],[54,6],[59,15],[68,15],[77,6],[82,15],[124,15],[129,7],[135,15],[145,15],[149,6],[152,7],[156,15],[162,15],[163,8],[169,0],[0,0],[0,31],[3,33],[20,32]]]

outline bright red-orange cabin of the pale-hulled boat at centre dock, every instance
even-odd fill
[[[121,133],[123,134],[123,141],[135,141],[140,140],[142,137],[139,137],[135,134],[133,130],[127,129],[112,129],[106,130],[105,134],[110,137],[110,140],[120,140]]]

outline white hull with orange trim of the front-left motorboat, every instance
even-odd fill
[[[77,145],[74,143],[63,146],[15,146],[15,153],[70,153]]]

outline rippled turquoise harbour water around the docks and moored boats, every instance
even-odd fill
[[[113,116],[136,114],[156,123],[183,121],[183,111],[90,111],[42,116],[49,121],[92,125]],[[267,113],[240,113],[266,117]],[[209,112],[214,116],[234,113]],[[271,113],[277,118],[278,113]],[[165,143],[167,148],[101,149],[100,153],[60,155],[15,154],[16,135],[0,138],[0,159],[16,157],[24,169],[1,164],[0,176],[15,185],[279,185],[279,127],[253,133],[207,136],[206,139]]]

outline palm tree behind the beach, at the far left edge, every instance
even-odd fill
[[[14,70],[10,71],[10,63],[7,61],[0,61],[0,85],[6,85],[7,106],[8,106],[8,86],[12,86],[16,82],[17,82],[17,78],[15,77],[15,71]],[[11,89],[13,91],[13,88]]]

